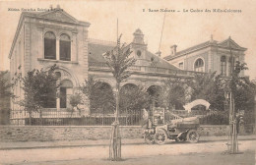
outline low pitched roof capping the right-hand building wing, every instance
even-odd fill
[[[193,52],[193,51],[197,51],[197,50],[200,50],[200,49],[209,47],[209,46],[218,46],[218,47],[228,48],[228,49],[232,48],[232,49],[241,50],[241,51],[247,50],[247,48],[244,48],[244,47],[239,46],[239,45],[238,45],[234,40],[232,40],[232,39],[230,38],[230,36],[229,36],[229,37],[228,37],[227,39],[225,39],[224,41],[218,42],[217,40],[209,40],[209,41],[206,41],[206,42],[203,42],[203,43],[194,45],[194,46],[192,46],[192,47],[186,48],[186,49],[184,49],[184,50],[181,50],[181,51],[177,52],[175,56],[173,56],[173,55],[165,56],[163,59],[169,61],[169,60],[175,59],[175,58],[177,58],[177,57],[186,55],[186,54],[191,53],[191,52]]]

